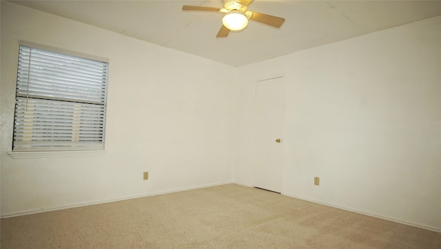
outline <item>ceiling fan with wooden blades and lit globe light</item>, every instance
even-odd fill
[[[213,11],[224,13],[222,19],[222,27],[216,37],[226,37],[230,30],[243,30],[247,27],[248,20],[265,23],[274,28],[280,28],[285,21],[284,18],[274,17],[269,14],[252,12],[248,10],[248,6],[253,0],[234,0],[226,1],[223,8],[205,7],[205,6],[182,6],[182,10],[196,11]]]

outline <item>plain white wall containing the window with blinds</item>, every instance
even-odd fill
[[[110,60],[103,155],[13,159],[19,40]],[[1,215],[232,181],[229,67],[1,1]],[[143,171],[150,180],[143,181]]]

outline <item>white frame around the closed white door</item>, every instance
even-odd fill
[[[283,94],[282,96],[280,96],[282,98],[282,149],[281,149],[281,164],[280,167],[280,194],[283,195],[285,192],[283,191],[283,186],[284,186],[284,179],[285,179],[285,110],[286,110],[286,80],[287,80],[287,76],[285,73],[279,73],[279,74],[269,74],[267,76],[260,76],[258,78],[256,78],[254,80],[254,120],[256,121],[257,118],[257,83],[258,82],[262,82],[265,80],[273,80],[276,78],[281,78],[281,83],[282,83],[282,91]],[[257,130],[256,127],[254,127],[254,140],[256,140],[256,136],[257,136]],[[256,186],[256,154],[257,154],[257,149],[254,148],[254,153],[253,153],[253,181],[252,181],[252,186],[255,188],[258,188],[258,186]]]

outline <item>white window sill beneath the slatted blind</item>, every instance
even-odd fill
[[[65,157],[84,157],[92,155],[103,155],[106,151],[20,151],[8,152],[14,159],[21,158],[65,158]]]

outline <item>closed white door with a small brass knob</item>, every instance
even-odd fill
[[[254,186],[282,191],[283,77],[256,82]]]

